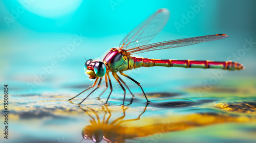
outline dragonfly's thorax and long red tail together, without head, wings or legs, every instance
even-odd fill
[[[123,54],[124,53],[124,54]],[[138,67],[151,67],[151,66],[165,66],[165,67],[193,67],[193,68],[217,68],[217,69],[228,69],[228,70],[240,70],[244,67],[237,62],[232,61],[197,61],[197,60],[158,60],[148,58],[137,58],[130,55],[125,55],[125,51],[118,51],[111,49],[106,54],[103,62],[108,67],[108,70],[112,72],[125,71]]]

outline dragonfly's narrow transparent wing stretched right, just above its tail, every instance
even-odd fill
[[[226,34],[215,34],[215,35],[207,35],[207,36],[199,36],[199,37],[193,37],[193,38],[185,38],[185,39],[158,42],[158,43],[142,45],[142,46],[135,47],[133,49],[129,49],[129,50],[127,50],[127,54],[132,55],[132,54],[139,54],[139,53],[144,53],[144,52],[148,52],[148,51],[170,49],[173,47],[181,47],[181,46],[198,44],[201,42],[219,40],[219,39],[223,39],[226,37],[228,37],[228,35],[226,35]]]

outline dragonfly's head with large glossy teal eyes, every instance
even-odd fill
[[[95,79],[105,75],[106,66],[101,61],[94,61],[90,59],[84,64],[84,71],[86,71],[90,79]]]

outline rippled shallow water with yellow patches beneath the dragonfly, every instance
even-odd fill
[[[82,142],[255,142],[255,82],[247,83],[215,86],[202,96],[197,87],[146,93],[148,105],[140,93],[134,99],[127,93],[124,107],[122,92],[108,106],[106,96],[95,95],[77,106],[85,95],[70,102],[74,93],[15,91],[7,141],[79,142],[83,132]]]

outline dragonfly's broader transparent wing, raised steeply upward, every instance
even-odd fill
[[[131,49],[148,43],[163,29],[169,15],[167,9],[157,10],[123,38],[119,44],[120,49]]]

